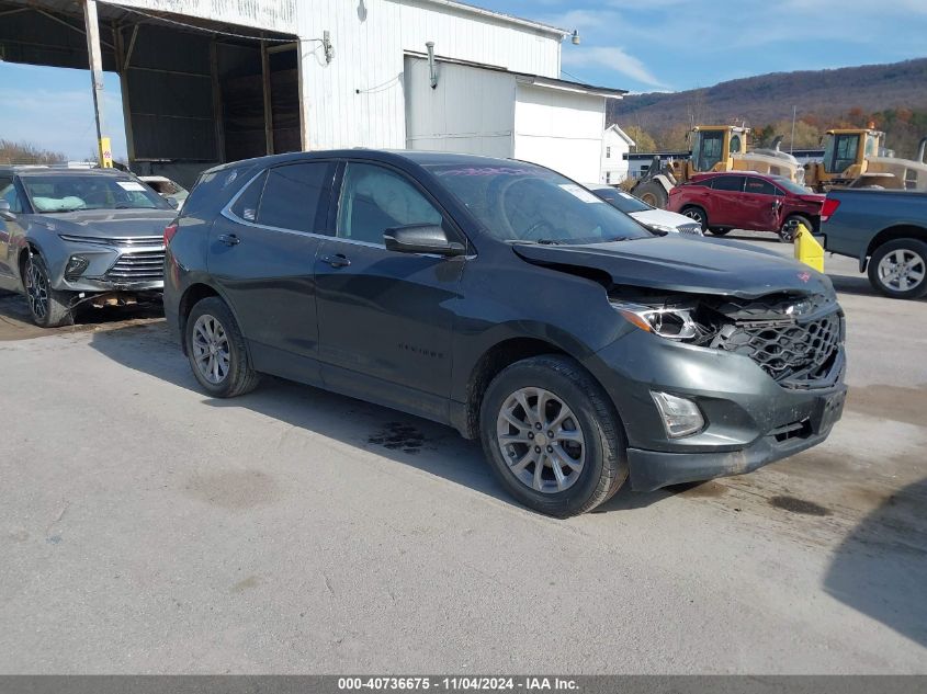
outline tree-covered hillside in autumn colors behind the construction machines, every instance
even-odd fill
[[[625,96],[609,102],[609,123],[646,136],[659,150],[686,149],[693,124],[746,124],[754,147],[784,137],[792,146],[792,107],[798,110],[795,148],[813,148],[832,127],[885,130],[886,145],[913,157],[927,135],[927,58],[835,70],[775,72],[675,93]],[[638,151],[646,151],[638,147]]]

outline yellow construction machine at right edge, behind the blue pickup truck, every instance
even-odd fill
[[[917,159],[900,159],[885,148],[885,134],[867,128],[835,128],[824,138],[824,161],[805,164],[805,184],[816,192],[832,187],[927,190],[927,137]]]

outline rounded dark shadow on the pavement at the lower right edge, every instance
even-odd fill
[[[927,478],[893,493],[853,528],[824,589],[927,646]]]

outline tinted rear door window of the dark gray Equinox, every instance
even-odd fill
[[[332,171],[328,161],[270,169],[258,205],[258,224],[305,232],[324,229]]]

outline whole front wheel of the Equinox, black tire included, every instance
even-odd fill
[[[547,431],[534,428],[542,395]],[[551,423],[557,419],[562,420],[558,424]],[[483,398],[479,433],[501,485],[521,503],[546,515],[568,517],[591,511],[628,477],[624,433],[611,401],[568,357],[534,356],[498,374]],[[547,441],[551,435],[553,445]],[[510,440],[504,443],[500,436]]]

